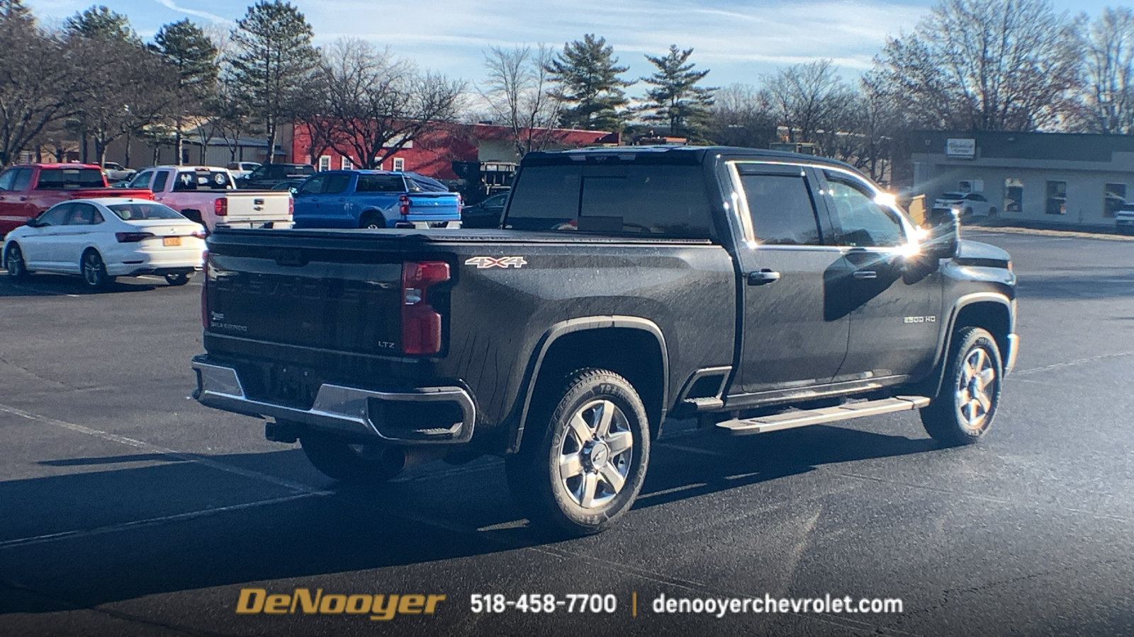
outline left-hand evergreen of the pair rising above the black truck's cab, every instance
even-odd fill
[[[587,130],[621,130],[626,124],[628,100],[626,82],[618,74],[629,67],[618,66],[615,49],[604,37],[586,34],[583,41],[564,45],[562,53],[544,67],[558,88],[551,96],[564,103],[560,124]]]

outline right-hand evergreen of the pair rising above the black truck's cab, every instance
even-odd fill
[[[665,57],[645,57],[658,70],[650,77],[642,78],[646,84],[657,86],[646,91],[643,110],[649,114],[643,119],[668,125],[672,136],[702,142],[711,114],[709,108],[712,107],[717,88],[696,85],[709,75],[709,70],[693,70],[696,65],[688,61],[692,53],[693,49],[682,51],[676,44],[670,44],[669,53]]]

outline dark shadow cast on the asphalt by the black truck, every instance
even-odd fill
[[[704,451],[691,452],[689,445]],[[934,448],[929,439],[829,426],[739,441],[685,436],[674,445],[653,447],[636,508],[773,481],[819,465]],[[297,455],[302,451],[291,449],[209,459],[287,476],[296,473]],[[138,455],[40,464],[81,467],[168,459]],[[307,481],[313,489],[330,490],[314,495],[186,461],[0,483],[0,614],[404,564],[443,571],[443,566],[430,564],[553,542],[522,524],[509,524],[522,515],[498,461],[437,468],[365,489]],[[747,475],[737,479],[736,474]],[[680,489],[689,485],[696,486]],[[208,512],[211,509],[225,510]],[[206,512],[185,516],[201,511]],[[129,524],[138,520],[151,521]],[[477,530],[493,525],[502,528]],[[75,530],[83,533],[42,537]]]

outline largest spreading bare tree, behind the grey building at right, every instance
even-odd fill
[[[941,0],[887,42],[875,70],[916,126],[1034,130],[1073,110],[1076,42],[1049,0]]]

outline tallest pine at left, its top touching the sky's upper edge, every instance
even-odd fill
[[[229,62],[243,99],[263,122],[268,156],[274,160],[276,131],[290,117],[303,86],[319,66],[314,33],[299,10],[282,0],[260,0],[232,29],[239,53]]]

